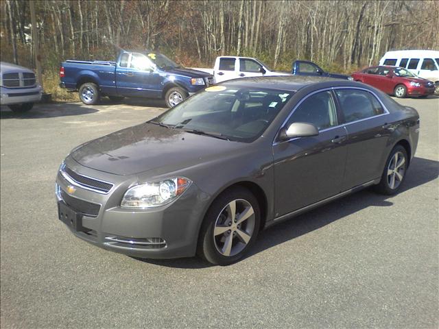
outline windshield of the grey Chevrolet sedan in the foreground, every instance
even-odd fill
[[[211,86],[150,123],[249,143],[263,134],[292,95],[285,90]]]

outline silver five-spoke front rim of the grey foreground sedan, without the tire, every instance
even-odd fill
[[[219,254],[235,256],[242,252],[254,233],[255,217],[250,202],[235,199],[219,212],[213,228],[213,241]]]

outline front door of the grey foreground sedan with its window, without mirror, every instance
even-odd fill
[[[338,125],[331,91],[307,97],[285,127],[315,125],[318,136],[274,143],[275,215],[285,215],[340,193],[346,161],[346,130]]]

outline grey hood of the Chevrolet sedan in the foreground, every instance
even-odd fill
[[[245,147],[244,143],[142,123],[80,145],[71,157],[85,167],[132,175],[158,167],[191,167]]]

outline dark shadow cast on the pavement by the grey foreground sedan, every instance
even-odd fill
[[[407,171],[403,188],[399,193],[404,193],[411,188],[435,180],[438,178],[438,175],[438,161],[414,158],[410,164],[409,170]],[[363,191],[342,197],[298,217],[278,223],[277,225],[260,232],[255,245],[250,250],[250,254],[245,258],[249,258],[254,254],[263,252],[265,249],[270,249],[270,247],[295,239],[296,237],[312,232],[313,230],[318,230],[338,219],[342,219],[343,217],[369,206],[392,206],[393,203],[387,201],[390,197],[392,196],[379,195],[373,192],[372,188],[366,188]],[[212,266],[200,258],[178,258],[169,260],[136,259],[155,265],[185,269],[200,269]]]

